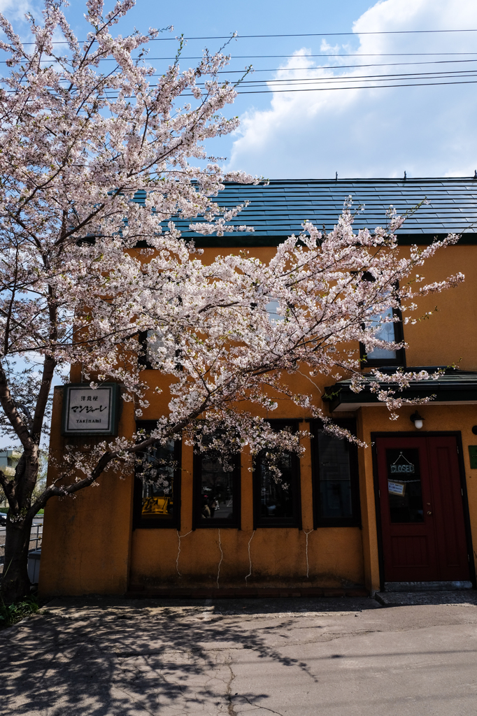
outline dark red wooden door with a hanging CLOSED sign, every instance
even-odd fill
[[[385,581],[469,579],[457,442],[376,440]]]

